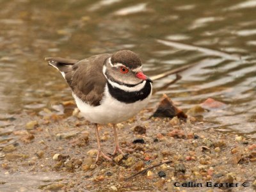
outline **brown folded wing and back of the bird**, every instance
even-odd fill
[[[65,79],[72,91],[81,100],[92,106],[99,106],[106,86],[106,77],[102,73],[104,62],[111,54],[100,54],[76,63],[64,63],[62,58],[58,65],[54,65],[61,72],[65,72]],[[50,60],[50,59],[49,59]],[[49,61],[47,58],[47,61]],[[54,58],[51,58],[54,60]],[[58,62],[57,60],[54,60]],[[52,63],[49,62],[50,65]]]

